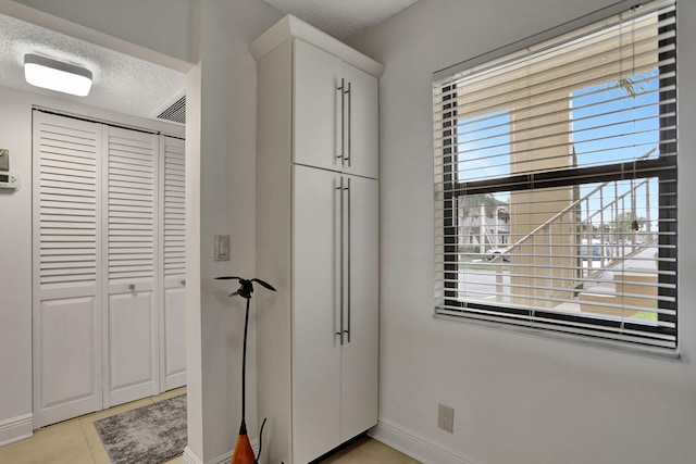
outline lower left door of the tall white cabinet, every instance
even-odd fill
[[[340,176],[294,173],[293,462],[307,463],[340,443]]]

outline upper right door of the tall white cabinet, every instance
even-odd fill
[[[341,64],[344,96],[344,172],[378,177],[377,78],[349,64]]]

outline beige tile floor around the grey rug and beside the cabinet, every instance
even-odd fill
[[[185,388],[167,391],[107,411],[76,417],[45,427],[26,440],[0,447],[2,464],[110,464],[101,444],[96,421],[182,394]],[[323,461],[326,464],[412,464],[418,463],[371,438],[362,438]],[[137,464],[137,463],[134,463]],[[166,464],[182,464],[182,457]]]

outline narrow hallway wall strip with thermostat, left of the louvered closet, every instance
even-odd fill
[[[2,443],[32,432],[30,423],[21,422],[32,414],[32,111],[25,96],[4,87],[0,102],[0,148],[10,150],[10,168],[23,183],[20,191],[0,191],[0,424],[7,426],[0,428]]]

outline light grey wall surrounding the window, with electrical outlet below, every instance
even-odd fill
[[[376,434],[423,460],[696,460],[696,2],[679,2],[681,360],[432,317],[432,73],[611,3],[420,0],[352,43],[386,65]],[[455,407],[452,435],[437,428],[438,403]]]

